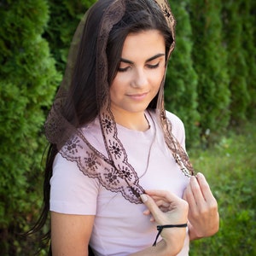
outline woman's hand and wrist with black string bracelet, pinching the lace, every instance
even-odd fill
[[[152,214],[151,221],[155,220],[159,225],[187,224],[189,206],[186,201],[163,190],[147,190],[146,193],[142,200],[148,210],[143,213]],[[166,228],[160,236],[166,242],[168,255],[177,255],[183,247],[186,228]]]

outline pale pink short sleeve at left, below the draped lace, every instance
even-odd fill
[[[57,154],[50,179],[49,210],[66,214],[95,215],[99,183],[79,170],[76,162]]]

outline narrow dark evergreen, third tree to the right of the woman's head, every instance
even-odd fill
[[[231,124],[238,124],[246,119],[250,96],[247,91],[248,68],[245,58],[246,49],[243,41],[247,35],[243,32],[246,16],[242,15],[242,0],[223,2],[224,44],[228,53],[228,73],[231,92]],[[247,40],[246,40],[247,41]]]

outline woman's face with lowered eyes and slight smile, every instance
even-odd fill
[[[158,30],[129,34],[110,86],[113,114],[144,112],[160,89],[165,69],[166,44]]]

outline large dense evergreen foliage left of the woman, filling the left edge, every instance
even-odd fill
[[[43,179],[44,110],[49,108],[60,80],[49,46],[41,38],[48,18],[45,0],[1,1],[1,255],[17,255],[21,247],[31,255],[35,249],[15,236],[24,231],[41,203],[37,186]]]

